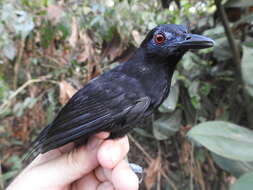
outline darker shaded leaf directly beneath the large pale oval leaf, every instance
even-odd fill
[[[215,153],[211,154],[214,162],[223,170],[231,173],[232,175],[239,177],[247,172],[253,171],[253,162],[245,162],[239,160],[231,160],[224,158]]]

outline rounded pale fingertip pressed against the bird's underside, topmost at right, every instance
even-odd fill
[[[113,168],[129,151],[128,138],[106,140],[98,150],[97,159],[102,167]]]

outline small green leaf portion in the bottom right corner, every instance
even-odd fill
[[[252,190],[253,187],[253,172],[249,172],[240,177],[230,190]]]

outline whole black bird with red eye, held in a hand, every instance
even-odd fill
[[[125,63],[94,78],[62,108],[38,135],[35,156],[98,132],[124,136],[168,96],[178,61],[189,49],[213,46],[210,38],[188,33],[182,25],[163,24],[151,30]]]

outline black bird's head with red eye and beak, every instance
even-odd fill
[[[187,28],[176,24],[162,24],[151,30],[141,44],[150,56],[168,58],[182,56],[189,49],[212,47],[208,37],[191,34]]]

